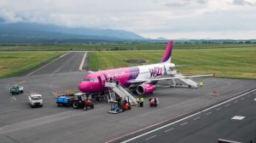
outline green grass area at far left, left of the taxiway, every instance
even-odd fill
[[[63,52],[0,52],[0,78],[14,77]]]

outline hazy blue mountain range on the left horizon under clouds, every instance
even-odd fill
[[[37,23],[1,23],[0,43],[83,43],[93,41],[143,40],[131,31],[72,28]]]

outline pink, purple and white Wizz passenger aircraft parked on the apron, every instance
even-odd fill
[[[109,79],[119,81],[125,88],[136,88],[138,94],[152,94],[156,89],[154,84],[161,80],[173,80],[178,78],[189,77],[208,77],[211,75],[197,76],[174,76],[177,73],[173,70],[175,64],[171,63],[172,59],[172,41],[166,46],[165,54],[159,64],[132,66],[112,70],[91,72],[84,77],[84,81],[79,84],[80,91],[84,93],[96,94],[107,91],[104,85]],[[169,75],[169,77],[163,77]],[[197,84],[194,88],[197,88]]]

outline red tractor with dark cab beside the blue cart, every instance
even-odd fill
[[[94,104],[92,100],[90,100],[88,96],[83,93],[73,94],[73,108],[79,109],[82,107],[84,108],[84,111],[86,111],[88,110],[88,107],[90,107],[90,109],[93,109]]]

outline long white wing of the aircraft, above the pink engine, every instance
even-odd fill
[[[183,77],[162,77],[162,78],[154,78],[154,79],[137,79],[131,80],[129,83],[152,83],[154,81],[163,81],[163,80],[172,80],[172,79],[179,79],[179,78],[190,78],[190,77],[211,77],[212,74],[209,75],[196,75],[196,76],[183,76]]]

